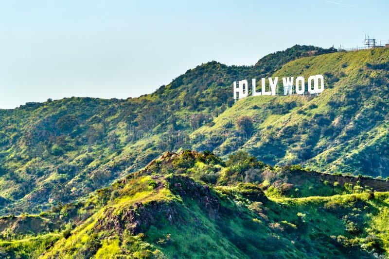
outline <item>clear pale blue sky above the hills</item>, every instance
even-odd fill
[[[389,39],[388,0],[0,0],[0,108],[151,93],[196,65]]]

